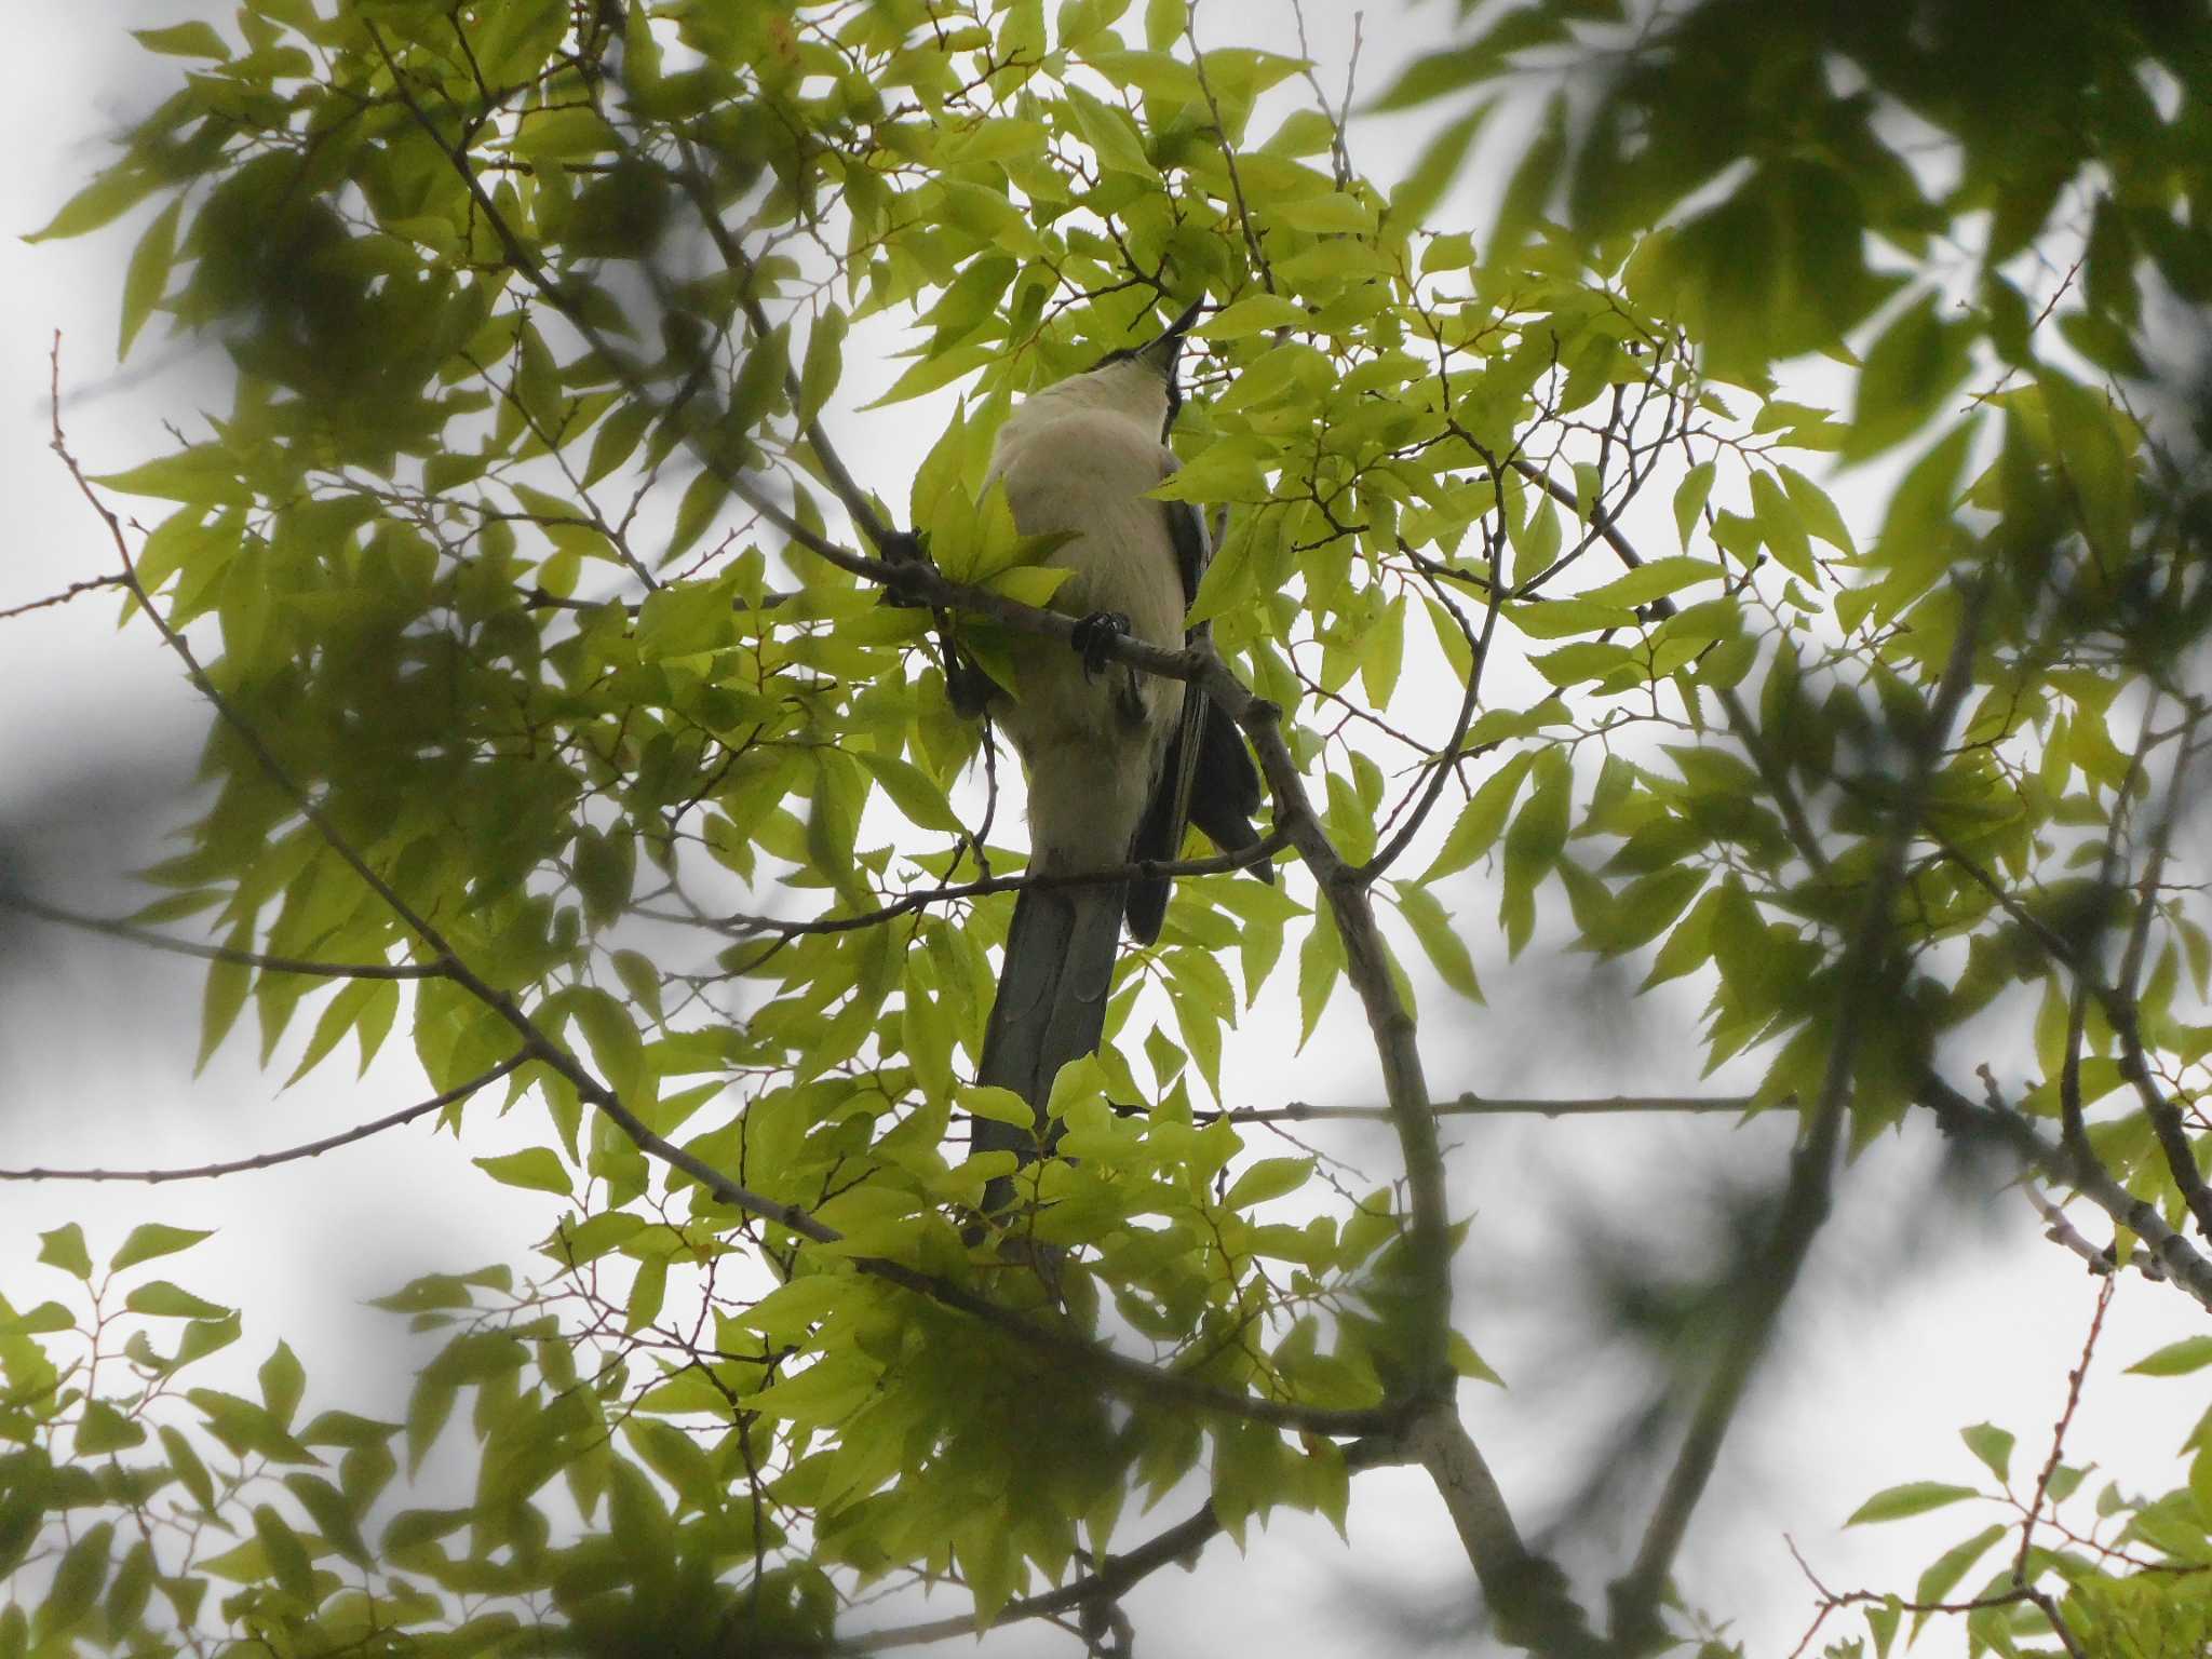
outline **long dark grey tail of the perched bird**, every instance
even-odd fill
[[[975,1082],[1018,1093],[1035,1108],[1037,1128],[978,1117],[973,1150],[1011,1150],[1026,1164],[1057,1139],[1057,1126],[1046,1124],[1044,1108],[1060,1068],[1095,1051],[1106,1031],[1121,905],[1121,883],[1024,887],[1013,900],[1006,960],[998,973],[998,998],[984,1029]],[[1004,1210],[1011,1199],[1011,1181],[991,1181],[984,1210]]]

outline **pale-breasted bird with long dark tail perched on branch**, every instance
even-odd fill
[[[1004,487],[1022,535],[1062,538],[1046,564],[1073,575],[1053,608],[1079,615],[1073,650],[1018,639],[1011,688],[973,670],[956,692],[971,714],[989,708],[1022,757],[1033,876],[1170,863],[1192,823],[1223,852],[1261,845],[1259,768],[1234,721],[1201,690],[1106,655],[1113,637],[1177,650],[1206,633],[1183,626],[1212,555],[1206,520],[1192,502],[1148,495],[1179,467],[1168,449],[1181,407],[1177,365],[1201,307],[1192,301],[1146,345],[1031,392],[993,442],[984,489]],[[1274,880],[1265,860],[1252,869]],[[975,1152],[1029,1161],[1057,1139],[1046,1121],[1053,1077],[1097,1048],[1121,927],[1152,945],[1168,885],[1141,874],[1020,889],[975,1082],[1011,1088],[1037,1121],[1024,1130],[978,1115]],[[984,1210],[1009,1197],[1000,1177]]]

